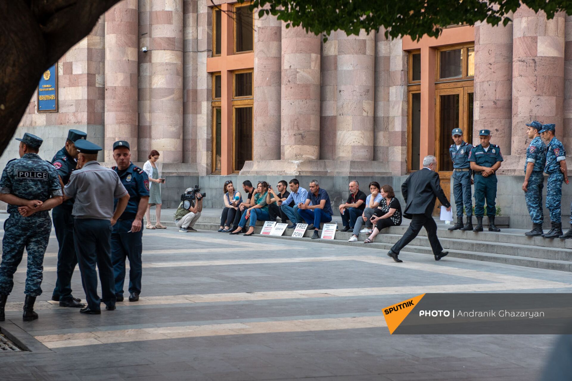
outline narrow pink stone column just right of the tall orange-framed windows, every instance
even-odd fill
[[[253,160],[280,159],[280,80],[282,22],[258,17],[254,33]]]

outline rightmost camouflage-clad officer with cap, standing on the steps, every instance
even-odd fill
[[[554,136],[553,124],[542,125],[539,131],[542,140],[548,145],[546,149],[546,166],[544,171],[548,174],[546,183],[546,208],[550,211],[550,223],[552,228],[542,234],[544,238],[556,238],[562,235],[562,181],[568,183],[566,169],[566,150],[562,143]]]

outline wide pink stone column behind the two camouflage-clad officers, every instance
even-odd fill
[[[555,123],[563,135],[564,16],[547,20],[523,5],[514,14],[512,155],[525,153],[531,120]]]

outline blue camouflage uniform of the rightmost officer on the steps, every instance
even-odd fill
[[[550,220],[562,223],[562,182],[564,174],[560,171],[560,162],[566,159],[566,150],[562,143],[552,138],[546,150],[545,173],[548,174],[546,183],[546,208],[550,211]]]

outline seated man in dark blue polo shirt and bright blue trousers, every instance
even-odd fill
[[[328,192],[320,188],[317,180],[310,182],[310,192],[304,203],[298,204],[298,214],[308,224],[308,230],[314,230],[312,239],[320,238],[318,230],[321,222],[331,222],[332,220],[332,204],[329,202]]]

